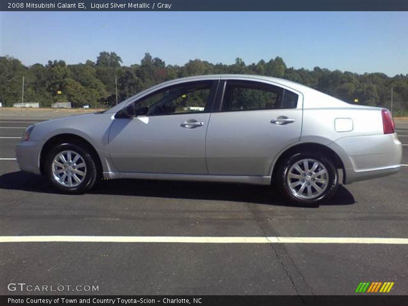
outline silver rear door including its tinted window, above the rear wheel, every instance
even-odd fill
[[[211,114],[209,174],[266,176],[274,158],[300,139],[301,94],[267,82],[222,80]]]

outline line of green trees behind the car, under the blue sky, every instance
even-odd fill
[[[349,71],[315,67],[313,70],[287,67],[281,57],[245,64],[237,58],[234,64],[212,64],[199,59],[184,66],[166,65],[158,57],[146,53],[140,64],[123,66],[114,52],[101,52],[96,62],[67,65],[63,60],[48,61],[46,65],[24,66],[18,59],[0,57],[0,102],[12,106],[21,101],[24,76],[24,102],[38,102],[49,107],[56,102],[70,101],[72,107],[89,105],[92,108],[113,106],[137,92],[164,81],[191,75],[243,73],[283,78],[315,88],[361,105],[391,108],[395,113],[408,112],[408,74],[388,77],[385,73],[358,74]]]

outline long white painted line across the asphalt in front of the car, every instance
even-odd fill
[[[187,237],[187,236],[0,236],[0,242],[408,244],[408,238]]]

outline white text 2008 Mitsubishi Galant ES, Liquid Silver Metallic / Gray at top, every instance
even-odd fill
[[[18,2],[8,3],[8,8],[11,9],[87,9],[87,6],[83,2],[79,3],[31,3],[31,2]],[[170,9],[170,3],[116,3],[116,2],[99,2],[91,3],[91,9]]]

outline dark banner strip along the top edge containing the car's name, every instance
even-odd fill
[[[0,0],[0,11],[408,11],[408,0]]]

